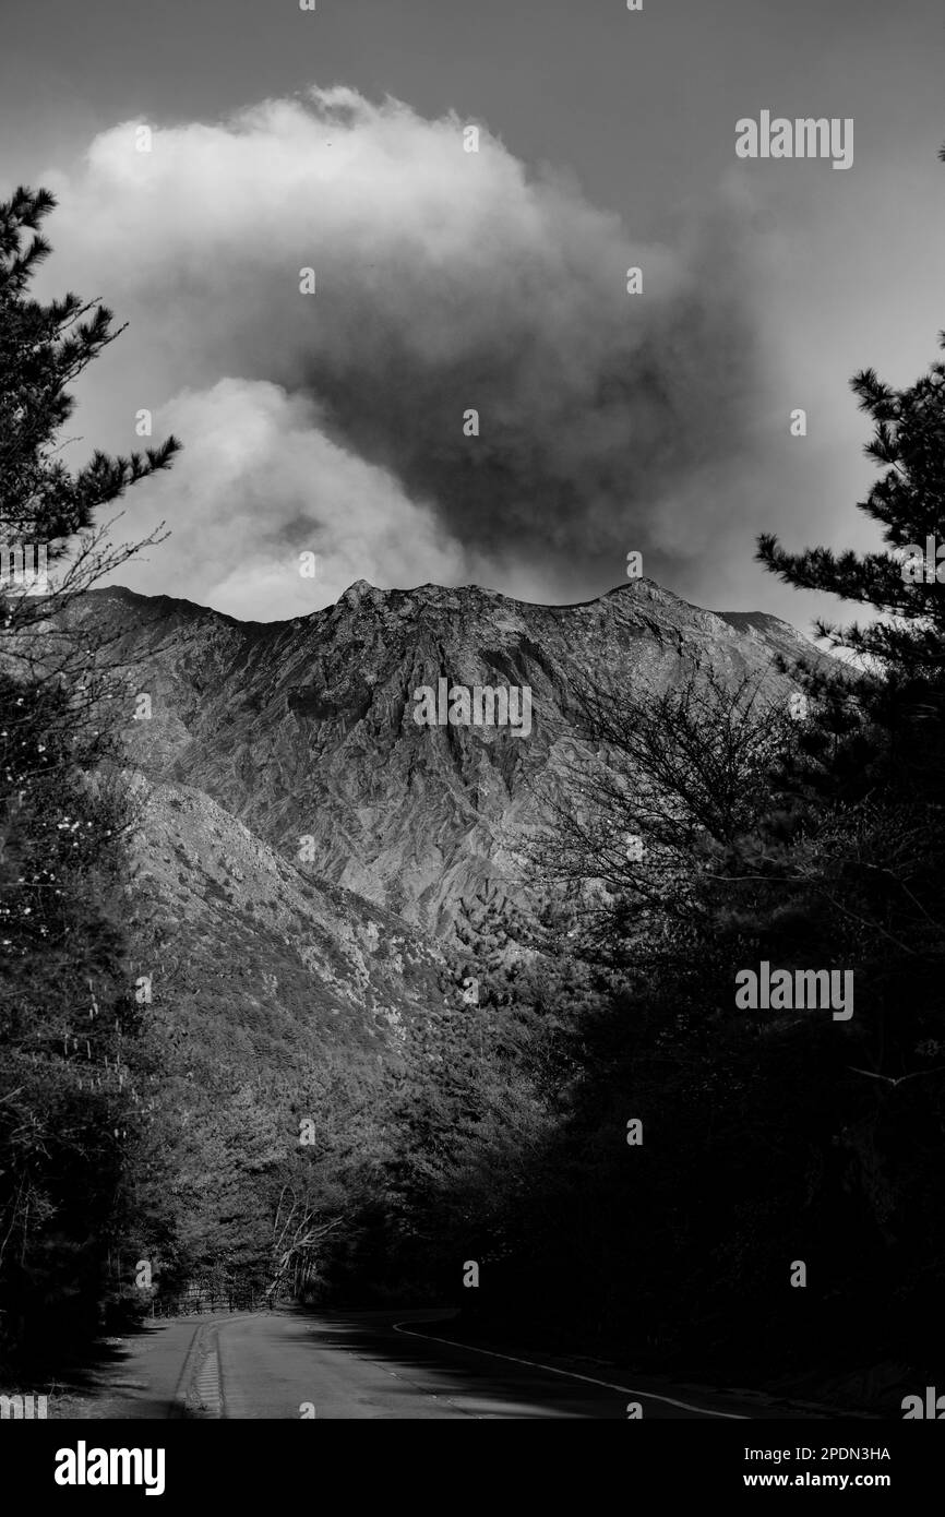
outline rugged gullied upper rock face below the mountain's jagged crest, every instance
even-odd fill
[[[270,623],[127,590],[89,602],[152,696],[152,719],[129,722],[152,783],[205,792],[312,881],[444,936],[514,897],[516,839],[538,821],[535,784],[579,739],[587,677],[633,702],[696,655],[733,680],[781,680],[775,654],[815,652],[777,617],[719,616],[649,579],[566,607],[358,581],[326,610]],[[531,733],[417,725],[414,690],[440,678],[529,687]]]

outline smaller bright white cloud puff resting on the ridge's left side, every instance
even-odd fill
[[[130,492],[120,536],[141,540],[165,520],[173,583],[156,546],[121,569],[132,589],[267,620],[305,616],[355,579],[413,583],[417,563],[434,583],[461,578],[461,554],[435,517],[385,469],[326,437],[306,396],[221,379],[176,396],[155,420],[161,435],[187,435],[187,454]]]

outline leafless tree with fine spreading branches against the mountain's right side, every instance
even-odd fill
[[[589,681],[576,701],[582,739],[546,781],[529,863],[592,951],[661,953],[701,912],[699,875],[731,866],[772,804],[796,743],[784,684],[696,658],[669,690]]]

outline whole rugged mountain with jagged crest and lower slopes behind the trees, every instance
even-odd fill
[[[258,1271],[302,1174],[300,1118],[370,1167],[391,1082],[438,1080],[457,1019],[451,1059],[463,1047],[457,939],[520,897],[516,845],[581,742],[581,684],[633,704],[701,657],[787,692],[775,657],[816,655],[784,622],[648,579],[561,607],[358,581],[267,623],[106,589],[68,614],[132,671],[129,928],[153,980],[159,1157],[187,1268],[235,1274]],[[419,725],[440,680],[529,687],[529,730]],[[331,1208],[329,1171],[305,1173]]]

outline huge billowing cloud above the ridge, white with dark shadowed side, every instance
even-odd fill
[[[140,124],[47,176],[52,284],[130,323],[89,376],[89,438],[129,446],[147,407],[187,444],[130,507],[173,537],[126,583],[193,587],[199,548],[193,598],[234,614],[361,576],[567,599],[617,583],[628,548],[661,578],[743,545],[725,479],[757,363],[724,215],[643,246],[485,127],[466,152],[457,118],[346,88],[155,126],[146,152]],[[323,581],[290,605],[303,549]]]

